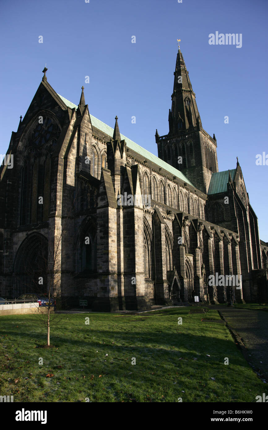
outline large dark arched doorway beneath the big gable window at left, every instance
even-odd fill
[[[31,233],[21,243],[14,261],[14,297],[28,292],[47,292],[48,241],[40,233]]]

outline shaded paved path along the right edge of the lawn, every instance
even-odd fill
[[[211,306],[219,310],[228,325],[240,336],[249,354],[254,370],[268,381],[268,312],[263,310],[236,309]]]

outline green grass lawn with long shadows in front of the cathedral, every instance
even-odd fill
[[[51,328],[49,350],[36,347],[46,344],[37,316],[1,316],[0,395],[14,402],[256,402],[267,385],[218,312],[189,310],[65,314]]]

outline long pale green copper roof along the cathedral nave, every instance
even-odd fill
[[[77,109],[77,106],[74,103],[71,103],[71,101],[67,100],[66,98],[62,97],[62,95],[58,94],[59,97],[62,99],[62,101],[66,104],[66,106],[71,107],[73,109],[74,107]],[[92,123],[92,126],[96,129],[102,131],[107,136],[113,136],[114,129],[112,129],[107,124],[103,123],[102,121],[98,120],[98,118],[93,117],[93,115],[90,114],[90,120]],[[189,179],[186,178],[185,175],[183,175],[182,172],[175,169],[175,167],[170,166],[170,164],[166,163],[165,161],[158,158],[156,155],[152,154],[151,152],[147,151],[147,149],[141,147],[140,145],[136,144],[126,136],[122,135],[120,133],[121,139],[126,141],[126,146],[129,149],[132,149],[133,151],[140,154],[143,158],[146,160],[152,161],[152,163],[157,164],[157,166],[162,167],[162,169],[165,169],[167,172],[172,173],[172,175],[176,176],[177,178],[180,178],[182,181],[187,182],[192,187],[194,186]],[[228,173],[228,172],[227,172]]]

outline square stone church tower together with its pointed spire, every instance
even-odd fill
[[[195,94],[180,49],[176,59],[169,109],[169,133],[155,140],[158,157],[180,170],[199,190],[207,192],[212,173],[218,172],[217,142],[202,128]]]

